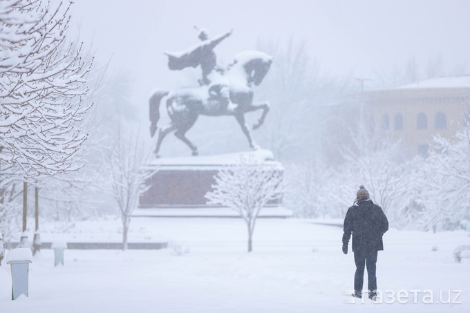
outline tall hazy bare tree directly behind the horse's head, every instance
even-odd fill
[[[259,143],[282,162],[305,154],[321,156],[323,126],[329,117],[325,108],[343,95],[347,81],[323,75],[302,41],[290,39],[285,46],[260,41],[258,48],[274,59],[255,94],[270,102]]]

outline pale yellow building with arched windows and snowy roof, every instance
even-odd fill
[[[440,77],[406,86],[364,91],[364,112],[382,121],[382,131],[426,155],[433,137],[451,138],[470,114],[470,76]],[[393,118],[393,127],[388,120]],[[376,129],[379,131],[379,129]]]

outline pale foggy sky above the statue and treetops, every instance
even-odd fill
[[[404,67],[415,57],[421,68],[442,56],[451,71],[470,73],[470,1],[190,1],[79,0],[73,28],[92,44],[98,64],[111,58],[109,72],[124,70],[132,94],[145,104],[153,88],[175,88],[185,74],[170,71],[163,51],[197,44],[194,26],[211,35],[233,29],[216,47],[220,64],[258,39],[304,40],[312,59],[330,75],[372,77]]]

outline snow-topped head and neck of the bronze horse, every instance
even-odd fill
[[[228,70],[232,73],[241,73],[247,79],[247,84],[253,83],[258,86],[270,70],[271,64],[270,55],[260,51],[245,51],[235,56]]]

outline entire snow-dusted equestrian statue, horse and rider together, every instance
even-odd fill
[[[265,120],[269,104],[267,102],[253,103],[253,87],[263,81],[270,70],[272,57],[259,51],[245,51],[235,56],[232,64],[223,69],[216,64],[213,49],[223,39],[232,35],[232,30],[214,38],[209,38],[207,30],[201,30],[199,38],[202,42],[179,53],[165,53],[169,57],[169,68],[180,70],[189,66],[200,66],[203,77],[200,86],[178,88],[173,91],[154,91],[149,99],[150,133],[155,135],[160,119],[160,103],[166,97],[167,112],[171,122],[158,131],[155,153],[158,156],[160,145],[166,135],[175,131],[176,137],[185,142],[192,155],[198,155],[198,148],[190,142],[185,134],[196,123],[199,115],[221,116],[232,115],[252,149],[258,146],[252,139],[250,129],[245,123],[245,113],[263,110],[257,124],[258,129]],[[216,70],[214,70],[216,69]]]

